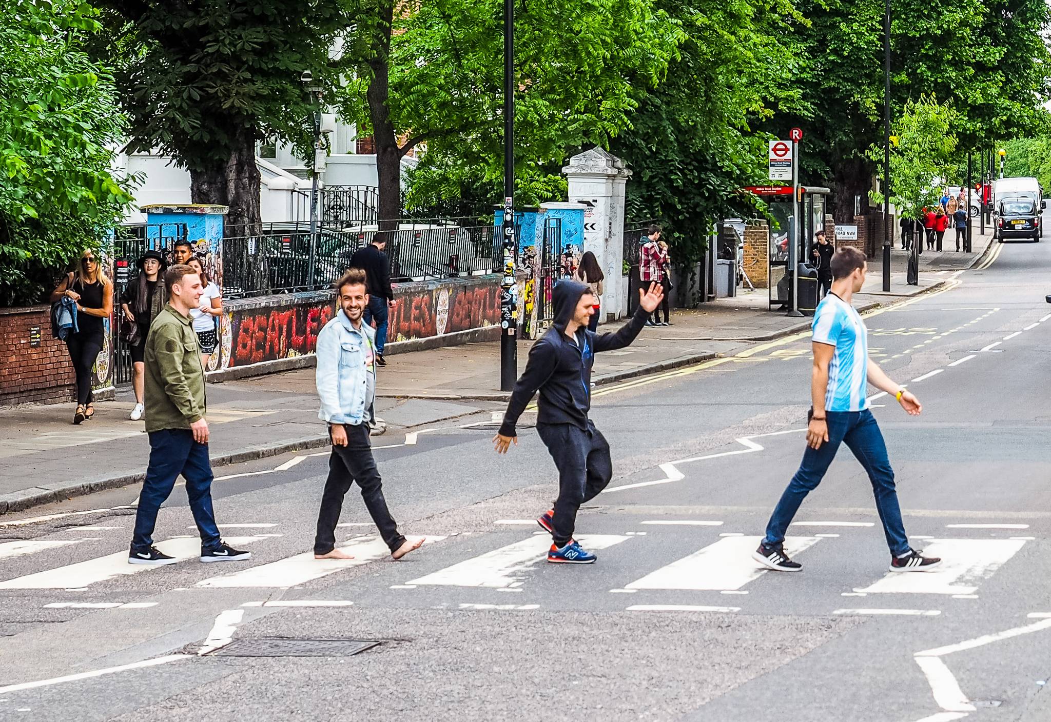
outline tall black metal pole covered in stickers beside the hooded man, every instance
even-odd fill
[[[515,314],[515,5],[503,0],[503,280],[500,283],[500,390],[518,377]]]

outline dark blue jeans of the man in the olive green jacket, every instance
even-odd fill
[[[193,441],[193,432],[189,429],[162,429],[149,433],[149,466],[139,492],[135,535],[131,537],[133,550],[145,551],[153,546],[157,513],[171,494],[179,474],[186,480],[186,495],[201,532],[201,548],[214,549],[219,546],[219,527],[211,509],[212,474],[208,446]]]

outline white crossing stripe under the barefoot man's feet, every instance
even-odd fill
[[[419,538],[409,537],[409,538]],[[440,542],[445,536],[427,536],[424,544]],[[313,579],[320,579],[342,569],[359,567],[369,561],[375,561],[386,556],[390,556],[391,550],[387,548],[384,540],[376,536],[359,536],[350,539],[346,544],[337,545],[342,551],[352,554],[353,559],[315,559],[314,553],[304,552],[284,559],[271,561],[242,569],[231,574],[213,576],[210,579],[199,581],[197,587],[209,589],[230,588],[230,587],[266,587],[286,588],[296,587]]]

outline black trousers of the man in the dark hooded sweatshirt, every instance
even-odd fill
[[[553,536],[556,546],[564,547],[573,538],[580,505],[613,479],[610,443],[591,421],[586,431],[573,424],[537,424],[536,431],[558,467]]]

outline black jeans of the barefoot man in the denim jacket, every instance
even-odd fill
[[[405,544],[405,537],[397,531],[397,523],[387,509],[384,498],[383,481],[372,458],[372,443],[369,441],[368,424],[344,424],[347,445],[333,446],[329,456],[329,475],[322,494],[322,509],[317,514],[317,535],[314,537],[314,554],[328,554],[335,548],[335,525],[343,511],[343,497],[350,491],[350,485],[357,482],[372,521],[379,535],[390,550],[396,551]],[[330,432],[331,433],[331,432]]]

